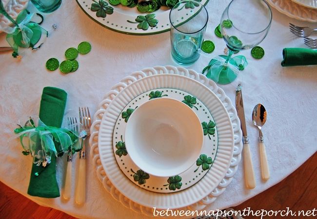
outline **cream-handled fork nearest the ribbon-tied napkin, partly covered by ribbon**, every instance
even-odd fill
[[[71,131],[78,133],[77,118],[67,117],[67,125]],[[72,149],[68,152],[67,156],[67,168],[66,168],[66,177],[64,185],[64,199],[68,200],[71,197],[72,193],[72,161],[73,161],[73,152]]]

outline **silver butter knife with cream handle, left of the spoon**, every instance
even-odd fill
[[[241,85],[238,85],[236,89],[236,109],[238,112],[238,117],[240,119],[241,130],[243,135],[242,143],[243,143],[245,182],[248,189],[254,189],[256,187],[256,179],[255,179],[254,171],[253,171],[253,164],[252,164],[251,152],[249,147],[249,137],[248,137],[247,127],[245,123]]]

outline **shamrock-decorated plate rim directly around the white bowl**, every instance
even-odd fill
[[[197,114],[204,131],[203,148],[197,161],[179,175],[159,177],[147,174],[132,161],[125,148],[125,129],[129,117],[140,105],[155,98],[172,98],[186,104]],[[113,149],[121,171],[139,187],[157,193],[179,192],[195,185],[212,167],[218,149],[217,124],[207,107],[190,93],[174,88],[152,89],[136,96],[121,111],[114,127]]]

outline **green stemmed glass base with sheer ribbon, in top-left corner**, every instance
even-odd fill
[[[2,1],[0,0],[0,14],[3,14],[14,24],[14,27],[5,26],[1,30],[7,33],[6,40],[14,49],[12,56],[15,58],[21,58],[21,56],[19,56],[19,52],[21,53],[28,47],[36,49],[34,45],[39,42],[42,34],[46,34],[46,36],[48,36],[48,32],[38,23],[31,22],[34,14],[31,14],[28,10],[21,11],[18,15],[17,21],[14,21],[5,11]]]

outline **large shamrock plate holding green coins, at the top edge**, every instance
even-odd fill
[[[167,6],[161,6],[157,11],[140,13],[137,7],[129,8],[127,6],[112,5],[109,0],[104,0],[107,6],[113,8],[113,13],[108,14],[105,10],[105,17],[98,17],[100,13],[98,11],[92,11],[91,6],[93,3],[99,3],[95,0],[76,0],[79,7],[84,13],[93,21],[99,23],[101,26],[113,30],[115,32],[130,34],[130,35],[153,35],[160,34],[170,30],[169,13],[170,8]],[[191,0],[199,1],[199,0]],[[200,0],[199,2],[206,5],[209,0]],[[111,13],[111,12],[110,12]],[[137,17],[141,16],[141,20],[136,21]],[[152,22],[157,20],[158,22]],[[140,25],[141,22],[147,22],[144,25]],[[139,25],[139,27],[138,27]]]

